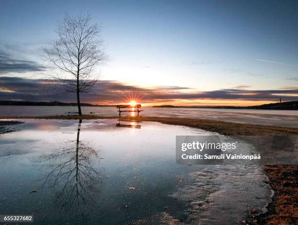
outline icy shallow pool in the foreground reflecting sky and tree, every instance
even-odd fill
[[[176,135],[208,134],[157,122],[25,120],[0,136],[1,214],[34,214],[38,225],[251,220],[272,194],[261,167],[176,164]]]

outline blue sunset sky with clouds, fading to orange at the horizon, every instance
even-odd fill
[[[41,47],[57,38],[65,13],[91,15],[108,55],[83,102],[298,100],[298,2],[291,0],[0,0],[0,100],[75,102],[44,91],[39,75]]]

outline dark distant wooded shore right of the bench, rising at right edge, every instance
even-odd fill
[[[161,108],[235,108],[235,109],[280,109],[280,110],[298,110],[298,101],[261,104],[253,106],[175,106],[175,105],[158,105],[152,107]]]

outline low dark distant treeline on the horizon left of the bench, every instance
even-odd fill
[[[77,103],[61,103],[61,102],[24,102],[24,101],[0,101],[0,105],[35,105],[35,106],[77,106]],[[81,103],[81,106],[115,106],[107,104],[89,104]]]

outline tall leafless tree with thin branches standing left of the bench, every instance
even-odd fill
[[[58,39],[43,49],[43,57],[53,67],[47,75],[58,80],[66,93],[76,93],[79,115],[82,115],[80,93],[90,92],[98,81],[94,68],[105,60],[100,29],[91,20],[91,16],[66,14],[56,28]]]

